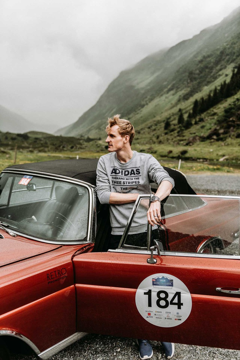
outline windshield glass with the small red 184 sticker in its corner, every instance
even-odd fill
[[[0,221],[13,231],[51,241],[86,239],[87,188],[24,174],[1,174]]]

